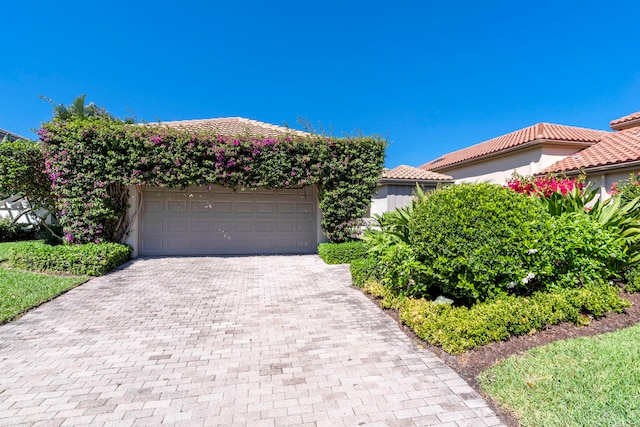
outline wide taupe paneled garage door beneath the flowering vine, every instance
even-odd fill
[[[142,197],[141,255],[316,252],[315,187],[238,192],[147,187]]]

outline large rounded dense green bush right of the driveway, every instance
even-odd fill
[[[462,302],[537,289],[550,216],[535,200],[494,184],[460,184],[418,203],[410,239],[428,286]]]

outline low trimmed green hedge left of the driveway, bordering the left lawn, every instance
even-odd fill
[[[102,276],[131,257],[131,247],[118,243],[49,246],[33,243],[12,249],[9,265],[31,271]]]

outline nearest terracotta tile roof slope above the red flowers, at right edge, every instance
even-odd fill
[[[640,129],[606,132],[602,141],[565,157],[540,172],[568,172],[640,161]]]

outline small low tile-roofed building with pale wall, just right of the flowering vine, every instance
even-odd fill
[[[382,173],[380,184],[371,202],[370,215],[383,214],[409,205],[416,185],[424,191],[438,185],[453,183],[453,179],[437,172],[400,165]]]

